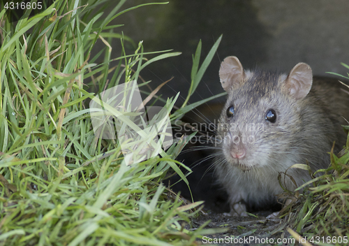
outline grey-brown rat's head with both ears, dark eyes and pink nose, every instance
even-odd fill
[[[227,57],[219,76],[228,92],[218,124],[225,164],[284,171],[302,138],[300,111],[311,89],[311,68],[299,63],[288,75],[244,71],[237,57]]]

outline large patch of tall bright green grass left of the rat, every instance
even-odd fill
[[[188,183],[179,169],[184,165],[174,160],[188,139],[126,165],[121,140],[103,140],[92,129],[88,102],[96,94],[137,80],[147,65],[180,54],[144,52],[142,42],[135,45],[117,32],[119,25],[110,26],[142,5],[121,11],[121,0],[102,17],[107,2],[57,0],[17,24],[0,13],[0,245],[195,245],[200,233],[210,232],[184,229],[201,203],[184,205],[162,184],[170,170]],[[111,57],[113,38],[131,43],[135,52]],[[97,40],[105,46],[90,57]],[[187,99],[220,41],[200,68],[198,45]],[[154,99],[143,89],[147,83],[138,85]],[[157,99],[170,112],[177,96]],[[187,102],[172,121],[204,101]],[[153,139],[151,133],[146,138]]]

